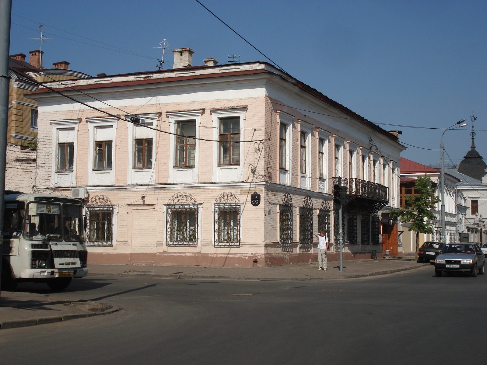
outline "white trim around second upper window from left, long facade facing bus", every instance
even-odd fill
[[[94,175],[96,173],[103,173],[110,175],[110,183],[106,185],[113,185],[115,183],[115,160],[116,160],[116,129],[117,120],[115,117],[101,117],[101,118],[86,118],[88,122],[88,185],[93,185]],[[112,169],[111,170],[94,170],[94,132],[96,127],[112,127]]]

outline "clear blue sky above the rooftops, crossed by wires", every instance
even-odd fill
[[[372,122],[447,128],[465,118],[470,128],[473,109],[475,128],[487,129],[486,1],[200,1],[286,72]],[[208,57],[226,63],[231,54],[268,61],[194,0],[12,5],[12,22],[23,27],[12,25],[10,53],[38,49],[30,38],[44,23],[53,38],[43,44],[45,67],[66,60],[90,75],[153,70],[159,54],[151,47],[163,38],[170,48],[193,49],[193,65]],[[113,49],[52,27],[147,57],[65,39]],[[170,68],[171,52],[167,59]],[[405,143],[439,148],[441,130],[381,127],[402,130]],[[469,149],[468,132],[445,134],[455,164]],[[477,131],[476,145],[487,161],[486,133]],[[439,151],[411,147],[402,156],[439,162]]]

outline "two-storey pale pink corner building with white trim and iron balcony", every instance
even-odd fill
[[[170,70],[47,84],[86,105],[28,95],[37,188],[83,199],[91,263],[316,261],[313,233],[337,242],[339,178],[355,198],[345,258],[380,251],[381,212],[399,206],[397,133],[268,63],[192,66],[190,49],[173,52]]]

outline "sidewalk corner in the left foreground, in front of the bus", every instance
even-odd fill
[[[117,310],[118,307],[97,302],[60,300],[35,293],[1,292],[0,329],[68,321]]]

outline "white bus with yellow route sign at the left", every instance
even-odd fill
[[[5,191],[1,289],[22,281],[68,287],[88,274],[81,201]]]

